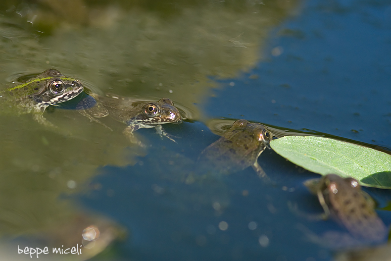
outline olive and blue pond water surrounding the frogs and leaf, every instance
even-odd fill
[[[333,260],[308,235],[346,231],[289,208],[322,212],[302,184],[318,174],[269,149],[258,163],[272,184],[252,168],[197,174],[195,162],[242,118],[391,153],[390,29],[388,0],[2,1],[1,90],[56,68],[100,95],[170,98],[187,119],[163,125],[175,143],[138,130],[141,148],[110,118],[111,130],[51,108],[53,130],[3,108],[0,259],[48,246],[40,259]],[[390,192],[365,191],[390,226]],[[94,247],[51,253],[92,224]]]

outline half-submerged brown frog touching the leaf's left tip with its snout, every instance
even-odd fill
[[[266,126],[240,119],[220,139],[202,151],[198,162],[221,173],[252,166],[260,177],[266,177],[257,159],[272,139]]]

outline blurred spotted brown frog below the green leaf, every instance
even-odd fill
[[[324,209],[323,218],[330,216],[344,226],[352,237],[337,236],[328,233],[328,237],[336,243],[337,238],[350,242],[339,244],[359,245],[360,243],[381,242],[387,235],[387,228],[375,211],[372,198],[361,190],[354,178],[342,178],[336,174],[328,174],[320,179],[305,182],[309,190],[316,194]],[[333,236],[330,236],[333,235]]]

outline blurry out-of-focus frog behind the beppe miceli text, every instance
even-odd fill
[[[53,257],[44,254],[46,248],[50,253],[57,254],[56,261],[85,261],[109,251],[116,242],[127,237],[127,230],[106,216],[83,210],[61,210],[59,213],[62,215],[53,215],[52,222],[45,223],[39,229],[17,234],[11,242],[2,243],[2,260],[14,260],[15,254],[10,250],[19,249],[21,254],[28,246],[30,251],[33,250],[31,257],[39,260],[53,260]],[[63,254],[73,255],[69,258],[69,255]]]

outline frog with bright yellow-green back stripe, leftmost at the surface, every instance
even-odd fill
[[[55,128],[44,117],[45,109],[72,100],[83,91],[79,80],[64,76],[56,69],[47,69],[24,83],[1,91],[0,103],[3,108],[10,107],[18,114],[32,113],[38,123]]]

